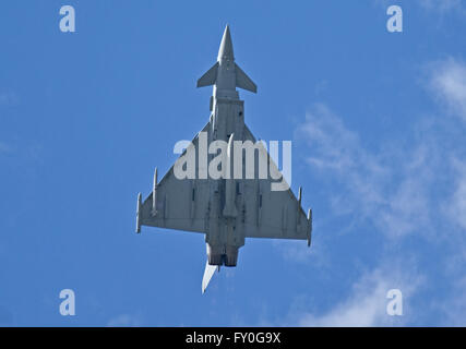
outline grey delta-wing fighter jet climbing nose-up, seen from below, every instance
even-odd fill
[[[296,198],[274,157],[244,123],[236,87],[258,88],[235,63],[228,25],[216,63],[198,81],[198,87],[210,85],[207,124],[159,182],[155,169],[152,193],[144,202],[139,194],[136,212],[136,232],[150,226],[205,234],[202,292],[215,269],[237,265],[246,238],[307,240],[310,246],[312,233],[312,210],[306,215],[301,207],[301,188]]]

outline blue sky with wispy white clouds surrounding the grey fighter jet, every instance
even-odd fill
[[[294,142],[313,245],[249,240],[202,296],[203,236],[136,236],[134,215],[207,121],[195,81],[227,23],[247,124]],[[465,326],[465,32],[462,0],[3,1],[0,324]]]

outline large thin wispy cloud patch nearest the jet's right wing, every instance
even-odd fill
[[[429,142],[409,151],[366,148],[359,135],[324,105],[309,110],[298,134],[311,149],[309,165],[324,176],[334,176],[339,184],[330,193],[335,212],[369,220],[389,237],[419,227],[429,230],[429,184],[435,166]]]

